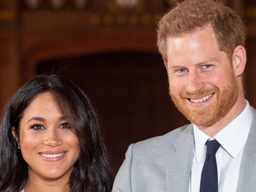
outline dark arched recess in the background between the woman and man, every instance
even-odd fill
[[[113,176],[131,143],[187,124],[168,94],[158,54],[122,52],[45,61],[38,73],[58,72],[91,98],[100,116]]]

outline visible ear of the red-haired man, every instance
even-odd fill
[[[233,69],[235,71],[235,75],[240,76],[244,69],[245,69],[245,63],[246,63],[246,51],[245,48],[241,45],[238,45],[233,53]]]

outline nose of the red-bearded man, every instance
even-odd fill
[[[204,87],[204,81],[200,74],[196,71],[189,71],[186,91],[190,94],[196,94],[200,89],[202,89],[202,87]]]

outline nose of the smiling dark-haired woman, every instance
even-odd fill
[[[57,145],[60,145],[62,142],[61,137],[59,136],[58,133],[58,128],[49,128],[44,136],[44,141],[43,144],[44,145],[48,145],[51,147],[55,147]]]

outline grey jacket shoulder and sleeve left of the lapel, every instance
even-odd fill
[[[184,131],[191,131],[186,129],[188,126],[131,144],[126,151],[126,159],[115,178],[112,192],[166,191],[165,157],[176,151],[173,146],[176,139]],[[187,134],[191,132],[185,133]]]

